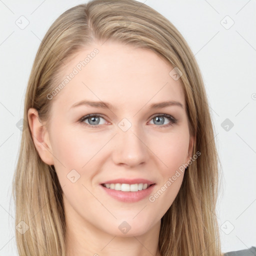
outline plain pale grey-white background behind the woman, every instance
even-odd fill
[[[85,2],[0,0],[0,255],[17,255],[11,199],[21,137],[16,123],[23,117],[25,89],[35,53],[51,23],[66,9]],[[222,251],[255,246],[256,1],[140,2],[177,27],[203,75],[222,165],[217,207]],[[24,29],[16,25],[21,23],[21,15],[29,21]],[[228,131],[224,129],[226,123],[222,124],[224,128],[221,126],[226,118],[234,124],[227,124]]]

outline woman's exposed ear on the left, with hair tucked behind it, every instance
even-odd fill
[[[27,118],[34,146],[40,158],[45,163],[53,165],[53,154],[49,141],[49,134],[45,125],[39,119],[37,110],[35,108],[29,108]]]

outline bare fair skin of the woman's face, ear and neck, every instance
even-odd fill
[[[115,178],[146,178],[156,183],[154,194],[192,156],[194,137],[189,135],[185,98],[180,79],[164,58],[151,50],[106,41],[80,50],[68,62],[63,79],[84,56],[99,52],[54,96],[49,126],[28,111],[33,141],[41,159],[53,164],[63,189],[66,218],[66,255],[159,255],[161,217],[175,199],[183,173],[155,201],[120,202],[103,191],[100,183]],[[63,80],[62,79],[62,80]],[[80,100],[107,101],[115,109],[80,105]],[[179,101],[177,105],[149,109],[151,103]],[[97,128],[87,114],[101,114]],[[166,113],[159,124],[154,114]],[[118,123],[126,118],[127,131]],[[95,121],[94,121],[95,122]],[[91,122],[92,123],[92,122]],[[80,177],[71,182],[75,169]],[[124,234],[118,226],[126,221]]]

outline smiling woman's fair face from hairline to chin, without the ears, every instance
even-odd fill
[[[151,50],[105,42],[80,50],[61,71],[61,81],[69,78],[48,96],[47,134],[69,216],[119,236],[145,233],[160,222],[180,188],[183,172],[172,177],[189,160],[193,139],[172,69]],[[175,103],[151,106],[163,101]],[[102,185],[116,179],[122,180]],[[153,185],[111,189],[141,189],[115,185],[129,181]],[[127,234],[123,227],[130,228]]]

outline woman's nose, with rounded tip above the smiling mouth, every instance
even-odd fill
[[[135,167],[148,161],[150,150],[141,129],[134,125],[126,131],[119,129],[113,141],[112,158],[115,164]]]

